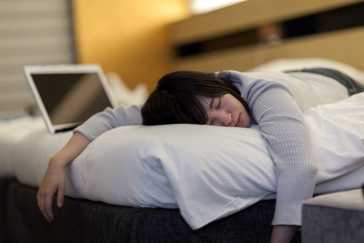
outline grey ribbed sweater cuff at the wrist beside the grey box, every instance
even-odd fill
[[[301,225],[302,203],[277,204],[272,225]]]

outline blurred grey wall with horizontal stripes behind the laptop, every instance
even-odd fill
[[[70,0],[0,0],[0,119],[34,112],[24,65],[75,62]]]

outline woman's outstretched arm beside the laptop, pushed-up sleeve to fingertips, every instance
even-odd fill
[[[51,157],[37,193],[38,207],[49,222],[54,219],[51,208],[54,193],[57,192],[57,206],[62,207],[64,204],[66,166],[100,134],[118,126],[141,123],[140,105],[120,105],[115,109],[106,108],[74,130],[74,135],[66,145]]]

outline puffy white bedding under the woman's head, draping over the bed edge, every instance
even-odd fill
[[[363,110],[364,93],[306,112],[318,183],[363,166]],[[276,191],[275,164],[257,126],[119,127],[94,140],[67,175],[72,181],[67,186],[80,197],[132,207],[178,207],[193,229]]]

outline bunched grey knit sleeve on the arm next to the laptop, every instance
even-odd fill
[[[82,133],[83,136],[92,141],[100,134],[118,126],[141,125],[140,108],[141,105],[120,105],[115,109],[108,107],[76,127],[73,132]]]

